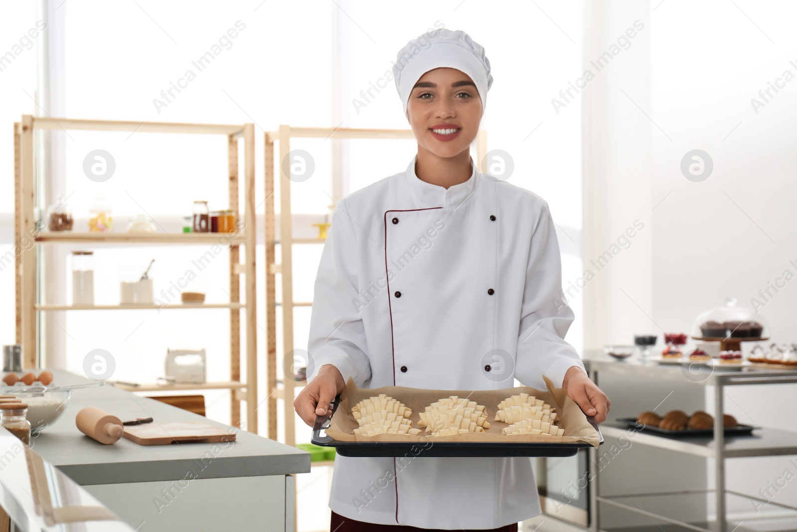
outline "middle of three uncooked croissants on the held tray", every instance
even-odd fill
[[[426,432],[433,436],[485,432],[485,428],[490,428],[485,405],[467,398],[450,396],[430,404],[425,410],[418,412],[421,417],[418,426],[426,427]]]

